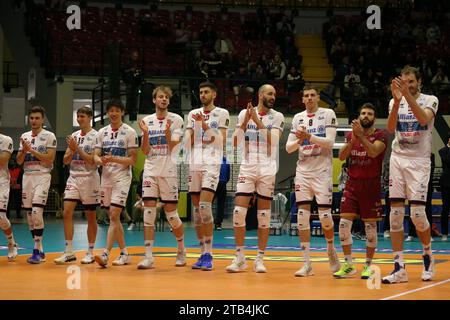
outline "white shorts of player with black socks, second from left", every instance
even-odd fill
[[[44,174],[24,174],[22,187],[22,208],[45,207],[52,176]]]

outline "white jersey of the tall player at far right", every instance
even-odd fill
[[[417,104],[422,108],[429,108],[436,115],[439,101],[435,96],[421,93]],[[394,105],[394,99],[389,102],[389,113]],[[395,138],[392,141],[392,154],[411,158],[430,158],[432,130],[434,118],[426,125],[421,126],[411,111],[411,108],[402,97],[398,109]]]

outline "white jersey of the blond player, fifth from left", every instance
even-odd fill
[[[143,121],[148,126],[150,152],[145,159],[145,173],[153,177],[176,177],[176,155],[171,156],[166,141],[167,119],[172,121],[170,131],[172,139],[179,140],[183,135],[183,118],[169,112],[167,117],[158,119],[156,113],[146,116]]]

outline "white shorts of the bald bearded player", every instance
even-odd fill
[[[236,196],[253,196],[254,192],[260,198],[272,200],[275,189],[275,175],[258,174],[254,170],[239,170],[236,184]]]

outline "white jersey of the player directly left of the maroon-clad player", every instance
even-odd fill
[[[338,126],[336,114],[332,109],[319,108],[315,113],[306,110],[297,113],[292,119],[290,134],[294,134],[301,127],[317,137],[326,137],[328,127]],[[304,173],[330,168],[333,164],[333,151],[327,150],[315,143],[304,140],[298,148],[297,171]]]

